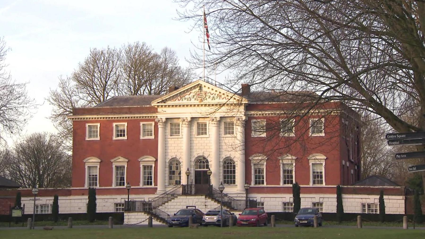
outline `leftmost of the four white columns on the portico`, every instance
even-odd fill
[[[165,120],[164,118],[156,118],[158,122],[158,169],[157,169],[157,182],[156,193],[161,194],[165,192]]]

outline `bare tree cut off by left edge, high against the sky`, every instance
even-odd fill
[[[17,83],[12,80],[6,71],[6,54],[9,48],[0,38],[0,140],[6,134],[20,134],[27,120],[31,118],[31,111],[37,108],[34,99],[28,97],[26,83]]]

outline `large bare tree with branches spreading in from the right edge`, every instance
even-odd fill
[[[233,82],[309,90],[382,117],[395,131],[424,131],[425,2],[415,0],[177,0],[202,27],[208,66]],[[201,54],[193,64],[200,66]],[[414,112],[414,122],[403,119]],[[418,146],[424,150],[424,146]],[[425,181],[425,174],[423,174]]]

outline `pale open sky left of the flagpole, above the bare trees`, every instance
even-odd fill
[[[57,88],[58,77],[70,75],[90,48],[135,41],[157,51],[168,46],[187,66],[184,59],[195,49],[193,43],[201,46],[202,32],[188,33],[190,23],[173,20],[178,8],[172,0],[1,0],[0,37],[11,48],[7,69],[13,79],[28,82],[29,96],[42,104],[23,134],[55,132],[45,98]]]

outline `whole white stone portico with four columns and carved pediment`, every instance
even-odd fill
[[[245,193],[245,106],[240,97],[202,80],[190,83],[152,102],[158,108],[158,188],[164,193],[170,182],[169,163],[179,162],[181,184],[205,182],[212,171],[211,184],[223,181],[224,159],[235,163],[235,183],[226,185],[227,193]],[[224,122],[233,122],[232,134],[224,133]],[[206,128],[205,128],[206,125]],[[198,132],[202,130],[202,132]],[[205,168],[196,165],[199,159]],[[205,160],[206,159],[206,160]],[[189,169],[189,182],[185,172]],[[195,177],[198,175],[197,177]]]

